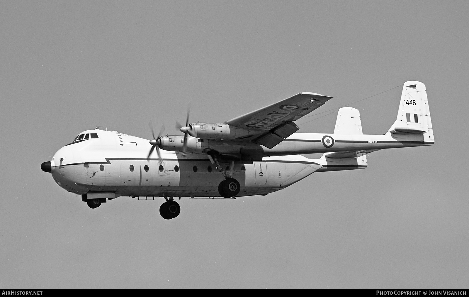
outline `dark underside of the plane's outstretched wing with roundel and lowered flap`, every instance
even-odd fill
[[[273,148],[299,128],[293,123],[332,97],[303,92],[225,123],[249,131],[242,139]]]

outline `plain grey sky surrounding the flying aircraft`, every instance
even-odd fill
[[[467,1],[2,1],[0,287],[468,288]],[[427,86],[435,145],[267,196],[91,210],[39,168],[97,125],[150,138],[299,92],[393,124]],[[332,111],[331,111],[332,112]],[[322,114],[324,115],[324,114]],[[298,123],[333,132],[336,113]],[[306,123],[308,122],[308,123]]]

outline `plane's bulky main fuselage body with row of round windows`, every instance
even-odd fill
[[[113,192],[117,196],[219,196],[224,180],[206,156],[160,150],[162,162],[149,141],[116,131],[89,130],[97,139],[77,141],[53,156],[53,179],[76,194]],[[323,165],[304,156],[265,157],[262,162],[235,162],[237,196],[265,195],[302,180]],[[225,169],[230,164],[220,163]],[[132,170],[131,170],[132,169]]]

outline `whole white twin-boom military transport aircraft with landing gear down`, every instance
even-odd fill
[[[313,172],[363,169],[383,148],[434,143],[425,85],[404,83],[397,119],[383,135],[362,133],[357,109],[339,109],[334,133],[295,133],[295,121],[332,97],[303,92],[224,123],[176,124],[184,135],[153,139],[83,131],[41,169],[91,208],[120,196],[164,197],[164,219],[179,215],[173,197],[267,195]],[[156,156],[155,156],[156,150]],[[324,153],[319,159],[300,154]],[[145,198],[144,198],[145,197]]]

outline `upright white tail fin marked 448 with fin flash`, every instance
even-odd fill
[[[427,89],[423,83],[415,80],[404,83],[397,119],[389,128],[389,132],[424,134],[424,141],[434,141]]]

